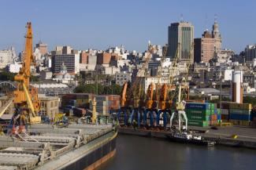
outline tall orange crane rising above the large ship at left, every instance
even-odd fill
[[[29,82],[32,76],[31,65],[34,61],[32,47],[32,23],[27,23],[27,34],[25,36],[26,44],[24,50],[24,59],[20,72],[14,77],[18,82],[17,90],[14,91],[13,102],[16,107],[28,109],[27,113],[30,123],[41,122],[41,117],[38,116],[40,110],[40,102],[38,98],[38,90],[32,87]]]

